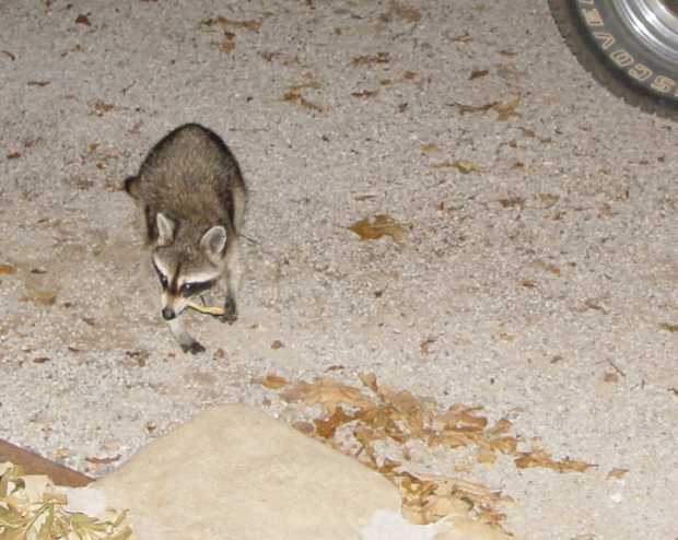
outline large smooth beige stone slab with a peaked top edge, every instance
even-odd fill
[[[465,517],[414,526],[388,480],[244,406],[202,412],[94,484],[68,490],[90,515],[129,509],[143,540],[503,540]],[[452,517],[452,516],[451,516]]]

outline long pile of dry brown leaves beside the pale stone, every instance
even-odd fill
[[[502,419],[494,424],[480,414],[480,408],[454,404],[441,412],[432,400],[422,400],[407,390],[379,386],[374,374],[361,374],[363,389],[319,378],[313,383],[288,383],[269,374],[261,384],[280,390],[288,402],[318,406],[320,418],[313,424],[297,422],[300,431],[324,439],[377,470],[401,492],[402,514],[413,524],[436,523],[451,514],[464,514],[502,529],[504,514],[499,504],[511,502],[500,491],[449,478],[416,476],[404,463],[382,457],[376,445],[397,445],[406,457],[406,443],[417,441],[429,447],[470,447],[482,463],[493,463],[499,454],[512,456],[518,468],[547,467],[559,472],[585,471],[589,463],[574,459],[554,460],[541,448],[519,451],[518,437],[511,435],[512,424]],[[349,432],[350,437],[338,436]]]

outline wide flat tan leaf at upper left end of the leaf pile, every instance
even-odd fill
[[[304,380],[283,390],[280,395],[285,401],[303,401],[309,407],[320,404],[328,413],[334,413],[340,403],[358,409],[372,407],[373,401],[358,388],[338,383],[330,378]]]

